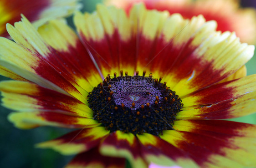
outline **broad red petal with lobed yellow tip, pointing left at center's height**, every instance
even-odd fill
[[[74,97],[25,81],[3,81],[0,91],[3,106],[18,111],[8,117],[16,127],[82,128],[98,125],[92,119],[93,111]]]

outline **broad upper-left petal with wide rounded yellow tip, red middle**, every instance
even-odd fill
[[[39,27],[38,32],[47,45],[57,51],[57,55],[49,53],[47,59],[69,74],[80,87],[91,92],[102,81],[87,50],[66,23],[51,20]]]

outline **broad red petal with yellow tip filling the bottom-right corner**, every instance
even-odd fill
[[[180,120],[173,128],[160,137],[188,153],[200,167],[256,165],[255,125],[221,120]]]

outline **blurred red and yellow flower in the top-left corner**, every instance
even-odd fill
[[[0,36],[7,37],[6,23],[14,24],[20,14],[40,26],[47,20],[71,15],[80,9],[78,0],[0,0]]]

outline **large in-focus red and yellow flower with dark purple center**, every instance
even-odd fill
[[[7,25],[15,42],[0,38],[0,74],[16,80],[0,83],[10,122],[78,128],[38,148],[77,154],[67,168],[256,164],[256,126],[220,120],[256,111],[256,76],[218,83],[254,46],[202,15],[143,5],[129,16],[98,5],[74,23],[79,37],[60,20],[36,30],[23,17]]]

